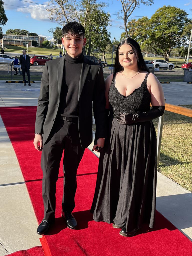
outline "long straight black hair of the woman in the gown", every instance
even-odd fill
[[[121,41],[118,46],[117,46],[117,51],[116,51],[116,55],[115,55],[115,64],[114,64],[114,71],[113,73],[116,73],[116,72],[119,72],[122,70],[122,66],[120,65],[119,63],[119,48],[122,46],[122,45],[130,45],[134,51],[136,51],[137,53],[137,59],[139,60],[137,62],[137,65],[138,65],[138,68],[139,70],[144,70],[144,71],[148,71],[147,69],[147,66],[145,64],[145,61],[143,59],[143,55],[142,55],[142,52],[141,52],[141,48],[139,46],[139,44],[137,43],[137,41],[135,41],[134,39],[132,38],[126,38],[124,39],[123,41]]]

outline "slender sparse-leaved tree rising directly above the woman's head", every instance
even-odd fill
[[[118,0],[119,1],[119,0]],[[152,5],[153,0],[120,0],[122,4],[122,10],[118,13],[118,18],[123,19],[124,22],[124,29],[125,29],[125,37],[129,38],[130,35],[128,33],[127,29],[127,20],[130,17],[130,15],[133,13],[134,9],[139,6],[140,4],[144,5]],[[123,13],[123,18],[120,15],[120,13]]]

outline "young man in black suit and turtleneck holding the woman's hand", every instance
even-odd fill
[[[84,149],[92,142],[92,108],[96,124],[93,150],[104,146],[106,102],[102,68],[83,56],[86,38],[82,25],[70,22],[62,33],[66,55],[46,62],[36,114],[34,145],[42,151],[44,200],[44,219],[37,228],[38,234],[44,234],[55,219],[56,181],[63,149],[62,217],[68,228],[77,227],[72,215],[76,174]]]

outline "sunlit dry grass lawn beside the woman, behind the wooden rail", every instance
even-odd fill
[[[192,108],[192,105],[182,105]],[[157,132],[158,119],[153,120]],[[93,125],[95,131],[95,125]],[[192,119],[165,111],[158,171],[192,192]]]

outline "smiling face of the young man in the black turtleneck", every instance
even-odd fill
[[[77,58],[81,55],[82,48],[86,44],[86,38],[79,35],[67,35],[62,37],[62,44],[64,45],[69,56],[72,58]]]

